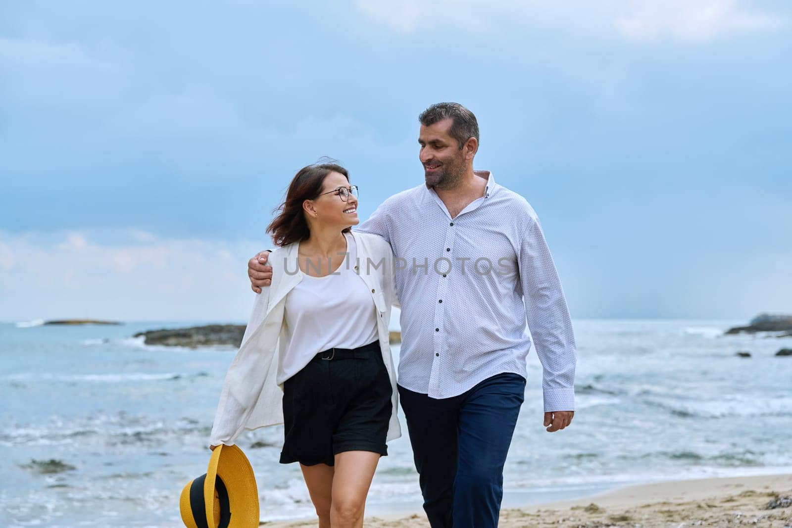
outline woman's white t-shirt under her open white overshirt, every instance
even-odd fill
[[[297,266],[303,279],[286,295],[284,325],[288,346],[280,358],[279,384],[302,370],[318,352],[358,348],[379,339],[374,300],[354,269],[355,239],[348,233],[344,235],[348,258],[330,275],[312,277]]]

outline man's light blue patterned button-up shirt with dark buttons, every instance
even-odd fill
[[[575,338],[542,227],[526,199],[495,183],[455,218],[425,184],[400,192],[356,230],[379,234],[397,259],[402,306],[398,384],[458,396],[495,374],[527,378],[531,339],[544,410],[573,411]]]

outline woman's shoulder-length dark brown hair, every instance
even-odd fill
[[[335,163],[307,165],[297,171],[289,184],[284,203],[273,211],[277,215],[267,226],[267,233],[272,234],[272,241],[276,245],[289,245],[310,237],[308,222],[303,213],[303,202],[319,197],[329,173],[343,174],[349,181],[347,169]],[[348,227],[342,233],[348,233],[350,230],[351,228]]]

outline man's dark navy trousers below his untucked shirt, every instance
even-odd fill
[[[398,387],[424,510],[432,528],[493,528],[503,466],[525,398],[525,378],[497,374],[436,400]]]

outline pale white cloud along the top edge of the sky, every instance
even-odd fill
[[[357,0],[368,16],[400,32],[432,29],[438,22],[467,29],[508,17],[530,25],[561,25],[583,31],[616,32],[626,40],[711,40],[733,32],[776,28],[783,17],[761,13],[739,0]]]

